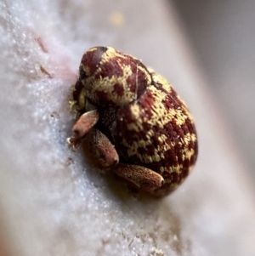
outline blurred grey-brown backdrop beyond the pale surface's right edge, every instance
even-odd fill
[[[255,179],[255,1],[171,2]]]

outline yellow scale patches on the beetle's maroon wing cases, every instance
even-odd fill
[[[178,124],[178,126],[181,126],[186,122],[187,118],[190,118],[186,113],[183,112],[182,109],[171,109],[167,112],[164,104],[162,103],[163,100],[166,99],[167,94],[164,92],[159,91],[155,86],[151,85],[148,89],[150,89],[151,94],[154,96],[155,103],[154,105],[151,105],[150,111],[151,111],[151,117],[148,120],[142,120],[143,111],[144,109],[141,109],[139,105],[131,105],[131,112],[133,115],[133,119],[135,122],[128,123],[127,129],[134,132],[140,132],[143,131],[143,122],[149,123],[152,127],[158,126],[160,128],[164,128],[164,126],[168,122],[172,122],[173,119]],[[171,88],[168,88],[171,89]],[[161,117],[161,118],[159,118]],[[140,155],[138,153],[139,148],[144,148],[146,145],[151,144],[151,138],[154,136],[153,131],[147,131],[146,132],[146,140],[139,139],[136,141],[133,141],[132,145],[128,145],[127,140],[123,139],[123,145],[127,146],[127,155],[128,156],[134,156],[137,155],[141,162],[144,163],[150,163],[150,162],[160,162],[161,159],[164,159],[164,152],[168,151],[170,148],[173,148],[175,145],[174,143],[171,143],[171,145],[168,145],[167,143],[164,143],[167,139],[167,136],[164,134],[161,134],[161,136],[158,138],[163,145],[158,145],[155,148],[153,155]],[[180,139],[181,145],[186,145],[184,147],[184,150],[182,151],[183,155],[183,161],[185,159],[191,158],[195,154],[194,149],[189,150],[188,145],[190,144],[190,141],[195,141],[195,134],[186,134],[183,139]],[[169,169],[165,167],[161,167],[161,172],[167,171],[167,172],[176,172],[178,174],[181,173],[181,169],[183,168],[182,165],[178,165],[177,167],[172,167]]]

